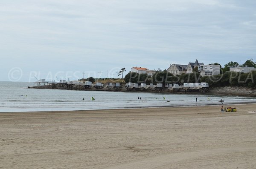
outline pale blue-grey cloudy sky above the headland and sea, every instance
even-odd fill
[[[0,0],[0,81],[255,56],[256,0]]]

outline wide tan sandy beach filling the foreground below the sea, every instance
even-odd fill
[[[256,104],[220,108],[0,113],[0,168],[256,168]]]

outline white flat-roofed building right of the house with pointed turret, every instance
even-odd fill
[[[221,73],[221,66],[220,65],[200,65],[198,67],[198,73],[200,73],[201,76],[218,75]]]

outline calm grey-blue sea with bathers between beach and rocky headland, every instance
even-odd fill
[[[220,105],[218,100],[221,99],[225,100],[224,104],[256,102],[255,97],[238,96],[27,89],[28,86],[36,85],[37,83],[28,82],[0,82],[0,112],[204,106]],[[91,97],[95,100],[91,100]],[[198,97],[197,102],[196,97]]]

